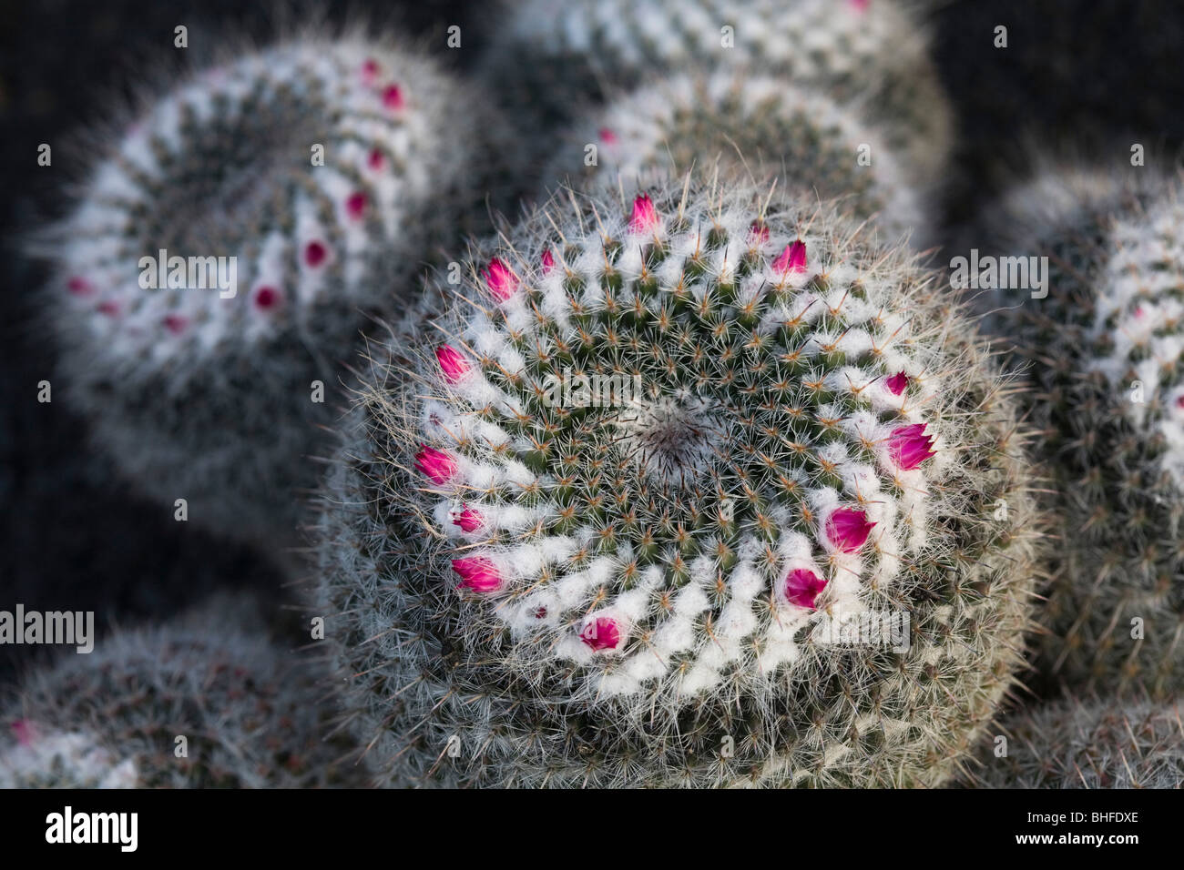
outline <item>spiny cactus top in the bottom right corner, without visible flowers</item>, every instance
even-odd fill
[[[1180,788],[1179,703],[1061,701],[1017,714],[1008,753],[984,753],[979,784],[995,788]]]

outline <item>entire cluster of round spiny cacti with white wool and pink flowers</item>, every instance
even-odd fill
[[[215,599],[33,671],[0,785],[1178,785],[1182,179],[998,206],[1049,264],[989,299],[1009,373],[907,245],[951,146],[912,7],[523,0],[478,72],[502,115],[356,34],[231,58],[47,233],[64,392],[193,520],[311,521],[335,688]],[[996,755],[1036,619],[1105,700]]]

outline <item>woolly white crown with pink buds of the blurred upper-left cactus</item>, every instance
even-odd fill
[[[449,198],[455,167],[438,167],[458,90],[413,52],[355,39],[295,40],[181,82],[57,228],[63,304],[81,309],[60,328],[137,373],[141,359],[192,367],[316,334],[327,307],[373,302],[424,259],[405,245]]]

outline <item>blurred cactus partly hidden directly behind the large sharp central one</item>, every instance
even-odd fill
[[[611,101],[578,125],[543,180],[578,170],[575,180],[585,185],[620,179],[644,186],[728,159],[757,178],[779,175],[791,189],[845,198],[844,208],[880,215],[881,230],[896,238],[926,220],[884,141],[854,108],[774,78],[671,76]],[[592,166],[588,144],[597,147]]]

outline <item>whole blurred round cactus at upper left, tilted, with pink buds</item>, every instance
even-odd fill
[[[350,37],[249,53],[146,107],[44,245],[62,379],[97,442],[189,520],[279,549],[336,366],[484,213],[498,135],[435,62]]]

